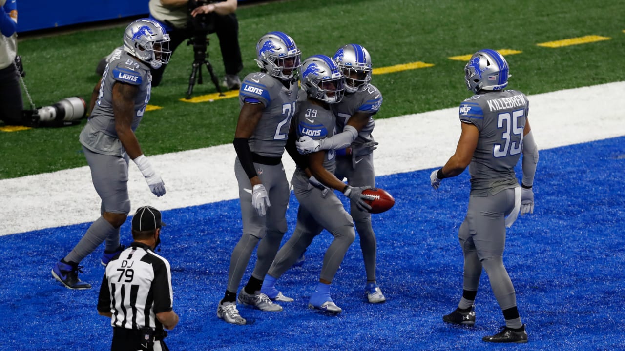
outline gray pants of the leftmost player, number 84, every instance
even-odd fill
[[[91,169],[93,186],[102,199],[100,212],[130,212],[128,196],[128,155],[126,157],[96,154],[83,146],[84,156]],[[99,217],[83,235],[74,249],[64,258],[66,262],[81,262],[106,240],[105,250],[119,247],[119,228]]]

